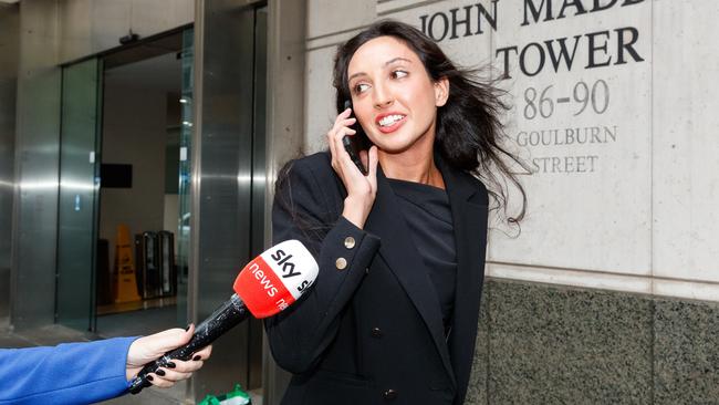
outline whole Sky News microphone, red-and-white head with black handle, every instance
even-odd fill
[[[129,392],[137,394],[150,386],[147,374],[167,366],[173,359],[190,359],[250,314],[262,319],[286,309],[314,283],[319,270],[317,262],[299,240],[285,240],[265,250],[240,271],[232,285],[235,294],[197,326],[192,339],[145,364],[131,383]]]

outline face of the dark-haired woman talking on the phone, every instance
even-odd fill
[[[434,143],[437,107],[448,82],[433,82],[417,54],[394,37],[357,49],[347,66],[353,114],[377,147],[402,153],[424,139]]]

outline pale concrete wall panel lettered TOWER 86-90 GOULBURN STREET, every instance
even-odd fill
[[[544,3],[536,22],[528,6],[498,4],[496,63],[514,101],[507,132],[534,174],[521,236],[494,232],[489,258],[649,274],[652,4],[566,3]],[[562,46],[570,58],[555,65]]]

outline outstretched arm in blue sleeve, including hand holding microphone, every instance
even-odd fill
[[[171,329],[145,338],[114,338],[58,346],[0,350],[0,404],[90,404],[123,395],[128,380],[166,351],[185,344],[194,328]],[[174,368],[153,374],[167,387],[202,366],[211,347],[197,360],[175,361]],[[199,357],[197,357],[199,356]]]

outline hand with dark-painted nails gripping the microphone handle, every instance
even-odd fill
[[[190,325],[187,330],[169,329],[149,336],[139,338],[133,342],[127,351],[127,380],[129,381],[137,375],[145,364],[159,359],[170,350],[185,345],[192,339],[194,333],[195,325]],[[147,380],[153,385],[163,388],[173,386],[180,380],[189,378],[192,372],[202,366],[202,361],[209,359],[211,352],[212,346],[207,346],[192,354],[192,359],[186,362],[175,359],[167,367],[158,368],[157,372],[148,374]]]

